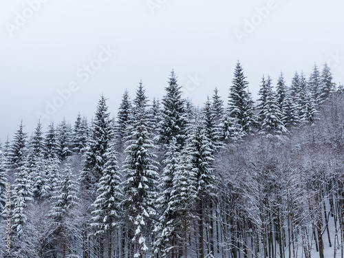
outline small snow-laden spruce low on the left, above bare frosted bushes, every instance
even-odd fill
[[[78,204],[76,186],[77,182],[74,180],[72,169],[70,168],[69,161],[67,161],[63,171],[63,180],[56,186],[54,196],[51,197],[54,204],[50,214],[56,222],[61,222],[66,213]]]

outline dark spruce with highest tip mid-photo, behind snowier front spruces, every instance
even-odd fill
[[[160,142],[169,144],[174,137],[178,144],[183,144],[186,126],[185,101],[181,97],[181,86],[178,85],[173,70],[169,77],[169,86],[165,89],[166,95],[162,99],[162,121],[159,125]]]

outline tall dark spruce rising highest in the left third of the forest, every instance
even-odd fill
[[[87,188],[95,186],[104,170],[106,162],[105,151],[114,134],[109,116],[106,99],[104,96],[101,96],[98,101],[92,125],[92,135],[89,138],[83,170],[80,175],[80,180]]]

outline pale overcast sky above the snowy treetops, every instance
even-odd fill
[[[104,94],[116,116],[140,79],[162,98],[171,69],[184,96],[226,100],[237,60],[254,98],[263,74],[287,84],[330,62],[344,82],[338,0],[0,0],[0,138],[63,116],[91,118]],[[60,94],[64,94],[63,99]],[[70,92],[70,94],[69,94]]]

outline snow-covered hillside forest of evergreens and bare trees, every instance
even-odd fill
[[[343,258],[344,88],[328,65],[263,76],[257,100],[239,62],[202,107],[175,72],[164,87],[30,134],[19,118],[1,144],[1,257]]]

